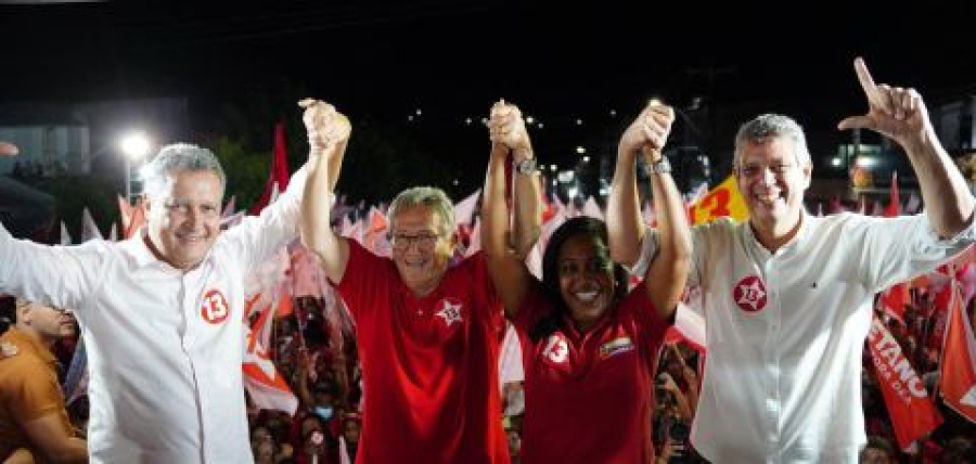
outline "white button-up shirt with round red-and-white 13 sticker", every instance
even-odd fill
[[[142,233],[43,246],[0,225],[0,292],[70,308],[90,373],[95,463],[251,463],[241,371],[244,276],[297,236],[305,170],[181,272]]]

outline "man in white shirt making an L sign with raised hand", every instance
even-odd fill
[[[780,115],[740,129],[733,169],[749,220],[694,228],[689,275],[701,286],[708,345],[692,442],[709,461],[856,463],[866,442],[861,351],[875,293],[974,242],[974,198],[922,98],[875,85],[861,59],[855,68],[870,111],[838,128],[898,142],[925,215],[813,217],[802,208],[811,179],[802,129]],[[612,252],[629,263],[656,247],[652,235],[642,250],[643,229],[632,227],[640,222],[632,170],[614,179],[607,207]]]

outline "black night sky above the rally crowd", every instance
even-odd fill
[[[0,102],[188,96],[205,131],[223,102],[282,86],[354,120],[423,108],[460,125],[506,98],[569,138],[560,121],[614,109],[622,125],[655,95],[703,98],[715,133],[769,111],[830,132],[866,107],[858,54],[928,101],[976,88],[974,2],[241,3],[0,5]]]

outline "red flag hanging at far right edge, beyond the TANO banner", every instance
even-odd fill
[[[976,423],[976,336],[954,283],[942,345],[939,390],[949,408]]]

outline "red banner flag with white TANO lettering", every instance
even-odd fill
[[[901,352],[901,346],[877,315],[871,323],[868,345],[895,437],[899,448],[904,450],[935,430],[942,423],[942,415],[928,398],[922,378]]]

